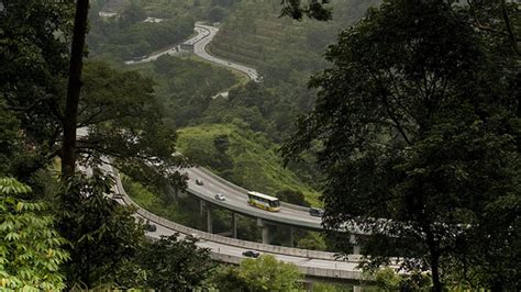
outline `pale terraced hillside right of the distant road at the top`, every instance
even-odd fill
[[[280,1],[240,1],[220,27],[210,50],[256,67],[268,85],[306,83],[326,66],[322,54],[342,27],[362,18],[378,0],[334,1],[330,22],[280,18]]]

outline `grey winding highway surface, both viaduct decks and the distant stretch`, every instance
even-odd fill
[[[193,53],[196,55],[212,63],[242,71],[253,81],[258,82],[260,80],[260,77],[255,69],[230,60],[217,58],[206,52],[206,46],[213,40],[219,29],[197,23],[195,31],[198,34],[184,44],[193,46]],[[125,61],[125,64],[132,65],[153,61],[162,55],[177,54],[178,52],[178,48],[170,48],[146,57],[140,61]],[[262,218],[268,223],[271,222],[314,231],[323,228],[321,225],[321,218],[311,216],[307,207],[281,202],[281,209],[279,212],[268,212],[256,209],[247,204],[247,190],[237,187],[203,168],[193,167],[182,169],[182,171],[187,172],[189,176],[187,192],[197,195],[206,202],[210,202],[211,204],[246,216]],[[201,180],[202,184],[196,183],[196,179]],[[117,179],[115,192],[122,194],[122,199],[117,199],[120,203],[135,205],[135,203],[126,195],[119,178]],[[215,200],[215,193],[224,194],[225,200]],[[364,280],[364,274],[356,268],[359,261],[359,256],[356,255],[350,256],[348,260],[336,260],[334,254],[331,252],[271,246],[223,237],[179,225],[152,214],[138,205],[135,206],[137,207],[137,216],[154,222],[157,226],[157,229],[155,232],[148,232],[147,236],[158,238],[162,235],[180,234],[180,237],[184,238],[186,235],[197,234],[197,236],[201,238],[197,245],[209,248],[212,252],[212,258],[219,261],[236,265],[245,258],[243,256],[244,251],[258,250],[262,254],[273,255],[278,260],[297,265],[300,271],[309,277],[335,278],[351,281]]]

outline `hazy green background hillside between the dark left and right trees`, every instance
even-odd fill
[[[278,1],[153,0],[112,3],[100,0],[90,14],[92,29],[89,46],[95,57],[121,64],[124,59],[181,42],[190,34],[189,27],[196,20],[222,20],[220,33],[210,44],[212,54],[252,65],[262,72],[263,82],[234,87],[239,81],[229,70],[189,58],[162,57],[154,64],[126,69],[137,70],[155,80],[165,121],[171,128],[190,125],[192,139],[206,139],[204,135],[196,136],[206,133],[210,124],[219,124],[212,127],[215,135],[228,135],[229,125],[233,124],[236,127],[234,133],[256,133],[263,137],[274,151],[270,156],[276,156],[279,143],[293,130],[297,115],[310,110],[314,102],[314,91],[307,88],[307,82],[312,72],[326,66],[322,58],[326,46],[334,42],[341,27],[356,21],[370,3],[377,2],[339,1],[334,4],[334,15],[337,16],[324,23],[279,18]],[[100,18],[98,12],[103,10],[117,12],[118,15]],[[148,16],[166,21],[143,22]],[[228,99],[211,98],[229,89],[233,90]],[[200,124],[206,126],[197,128]],[[197,148],[198,144],[192,146]],[[187,147],[187,151],[190,148]],[[258,153],[255,144],[251,143],[245,143],[234,153],[234,159],[241,161],[234,166],[215,159],[201,159],[213,153],[211,148],[198,151],[201,155],[193,156],[199,158],[197,162],[214,169],[234,183],[273,194],[281,189],[300,190],[306,193],[309,203],[319,204],[321,178],[311,159],[291,162],[289,168],[281,170],[280,159],[264,159],[266,157],[260,155],[250,161],[244,160],[247,153]],[[254,160],[262,164],[255,167],[256,171],[251,169]],[[225,169],[226,166],[230,168]],[[280,169],[281,172],[270,169]],[[282,179],[274,178],[276,175]],[[291,179],[288,180],[289,177]]]

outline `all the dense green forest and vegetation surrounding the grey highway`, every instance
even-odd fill
[[[119,169],[140,205],[202,228],[197,200],[173,196],[175,169],[196,162],[325,209],[324,234],[288,243],[276,226],[274,244],[343,257],[353,238],[337,231],[356,224],[378,289],[519,290],[520,7],[329,2],[1,1],[0,289],[302,289],[270,256],[220,266],[196,240],[151,240],[118,203]],[[263,82],[189,55],[122,63],[196,21],[220,23],[211,53]],[[252,218],[237,229],[262,237]]]

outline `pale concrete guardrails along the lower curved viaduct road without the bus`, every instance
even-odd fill
[[[125,204],[133,205],[136,207],[136,213],[140,216],[178,233],[197,234],[201,239],[204,239],[204,240],[214,242],[214,243],[229,245],[229,246],[235,246],[235,247],[240,247],[244,249],[255,249],[255,250],[265,251],[269,254],[295,256],[295,257],[302,257],[302,258],[309,258],[309,259],[323,259],[323,260],[331,260],[331,261],[336,260],[335,254],[333,252],[266,245],[266,244],[229,238],[229,237],[220,236],[217,234],[201,232],[199,229],[191,228],[191,227],[171,222],[169,220],[163,218],[141,207],[134,201],[132,201],[132,199],[126,194],[119,177],[117,178],[117,190],[122,195]],[[213,250],[211,255],[212,255],[212,259],[228,262],[228,263],[239,265],[241,260],[243,260],[242,257],[223,255],[223,254],[215,252]],[[350,255],[347,261],[358,262],[359,259],[361,259],[361,256],[358,255]],[[329,269],[329,268],[306,267],[306,266],[298,266],[298,267],[302,273],[310,277],[339,278],[339,279],[350,279],[350,280],[364,280],[365,279],[362,274],[362,271],[347,271],[347,270]]]

